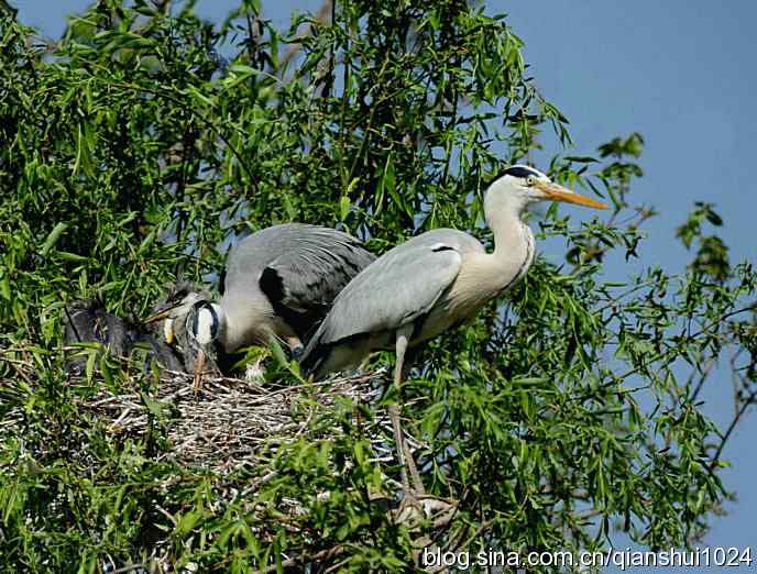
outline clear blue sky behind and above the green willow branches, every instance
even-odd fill
[[[65,14],[81,11],[84,0],[11,0],[21,20],[48,36],[65,27]],[[200,0],[198,11],[218,19],[231,0]],[[319,0],[262,0],[266,18],[288,22],[293,10],[316,10]],[[571,122],[575,153],[592,154],[616,135],[640,132],[645,177],[632,191],[633,202],[654,206],[661,216],[645,230],[645,264],[681,271],[687,254],[674,229],[696,200],[710,201],[725,221],[720,234],[733,261],[757,258],[757,211],[753,175],[757,152],[757,2],[690,0],[489,0],[491,13],[505,12],[525,42],[531,75],[548,100]],[[547,143],[547,142],[546,142]],[[548,147],[549,152],[555,147]],[[538,158],[539,156],[537,156]],[[634,269],[613,263],[608,274],[623,278]],[[726,423],[733,412],[731,383],[712,382],[707,412]],[[753,544],[757,552],[757,412],[742,423],[725,451],[733,468],[724,473],[737,501],[713,518],[710,547]],[[682,571],[683,572],[683,571]],[[695,572],[687,569],[685,572]]]

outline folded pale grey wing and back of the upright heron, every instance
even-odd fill
[[[378,257],[334,299],[305,350],[304,371],[317,371],[342,341],[421,322],[454,282],[468,252],[484,249],[465,233],[438,229]]]

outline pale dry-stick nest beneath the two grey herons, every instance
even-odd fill
[[[171,450],[161,456],[221,473],[233,471],[254,462],[264,446],[297,440],[312,418],[332,408],[337,398],[350,398],[355,405],[377,400],[380,375],[278,387],[206,376],[195,389],[191,376],[176,373],[162,379],[152,396],[158,408],[167,409],[163,420],[168,426]],[[144,434],[154,415],[139,389],[125,394],[103,389],[80,406],[108,421],[111,432],[130,437]],[[383,419],[377,426],[388,431],[390,422]],[[383,432],[373,431],[376,441],[383,442]]]

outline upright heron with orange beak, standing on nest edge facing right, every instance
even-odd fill
[[[484,217],[494,232],[492,253],[453,229],[427,231],[390,250],[334,299],[303,354],[303,369],[322,376],[354,367],[373,351],[394,350],[394,384],[399,390],[409,347],[471,318],[524,277],[535,247],[522,216],[530,203],[544,200],[607,207],[553,184],[533,167],[505,169],[484,197]],[[405,463],[415,490],[424,488],[403,438],[396,402],[390,406],[390,417],[405,496],[413,499]]]

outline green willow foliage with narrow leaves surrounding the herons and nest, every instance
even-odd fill
[[[361,432],[381,404],[304,415],[298,441],[220,477],[163,456],[161,408],[123,442],[78,407],[130,380],[150,406],[152,372],[92,360],[80,386],[63,368],[65,301],[100,294],[144,317],[177,274],[215,282],[249,230],[341,225],[376,252],[438,227],[491,242],[487,178],[539,141],[571,143],[505,16],[343,0],[276,30],[254,0],[221,23],[191,3],[99,0],[51,44],[0,12],[0,420],[22,413],[0,443],[3,570],[157,569],[161,541],[176,569],[402,571],[425,533],[525,553],[606,549],[618,532],[685,547],[706,530],[733,426],[717,429],[699,395],[736,377],[734,426],[754,401],[757,277],[696,205],[679,229],[685,273],[608,280],[608,257],[654,253],[640,231],[654,212],[633,206],[637,134],[541,166],[612,212],[533,217],[537,241],[564,249],[435,341],[405,386],[426,487],[459,501],[441,530],[397,523],[370,496],[397,490]],[[229,481],[255,488],[221,497]],[[287,499],[301,512],[283,515]]]

